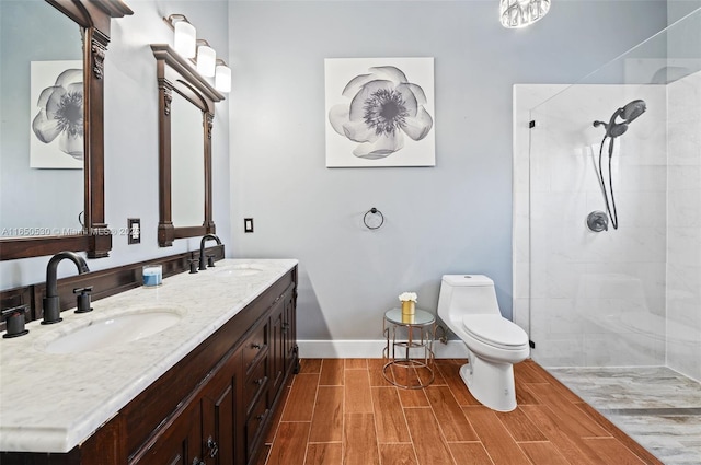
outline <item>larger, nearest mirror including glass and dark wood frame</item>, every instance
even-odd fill
[[[3,113],[10,111],[7,95],[25,115],[32,109],[26,120],[16,121],[16,130],[5,127],[11,123],[2,117],[3,133],[10,136],[3,138],[0,154],[0,260],[60,251],[106,257],[112,235],[104,217],[104,57],[112,18],[133,11],[122,0],[1,7]],[[16,27],[5,27],[11,24]],[[7,86],[4,71],[23,81]],[[47,77],[53,82],[38,79]]]

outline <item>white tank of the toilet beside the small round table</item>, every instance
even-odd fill
[[[501,315],[494,281],[484,275],[444,275],[438,294],[438,314]]]

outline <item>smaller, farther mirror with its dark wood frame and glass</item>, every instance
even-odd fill
[[[161,247],[216,232],[211,216],[211,130],[225,97],[169,45],[152,44],[159,86]]]

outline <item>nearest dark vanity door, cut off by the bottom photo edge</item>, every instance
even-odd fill
[[[203,465],[199,403],[189,404],[130,465]]]

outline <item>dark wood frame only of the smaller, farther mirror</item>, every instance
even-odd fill
[[[159,96],[159,223],[158,244],[173,245],[173,241],[216,232],[211,216],[211,129],[215,103],[225,97],[166,44],[151,44],[157,62]],[[205,161],[205,218],[202,226],[173,224],[171,183],[171,102],[173,91],[203,112]]]

